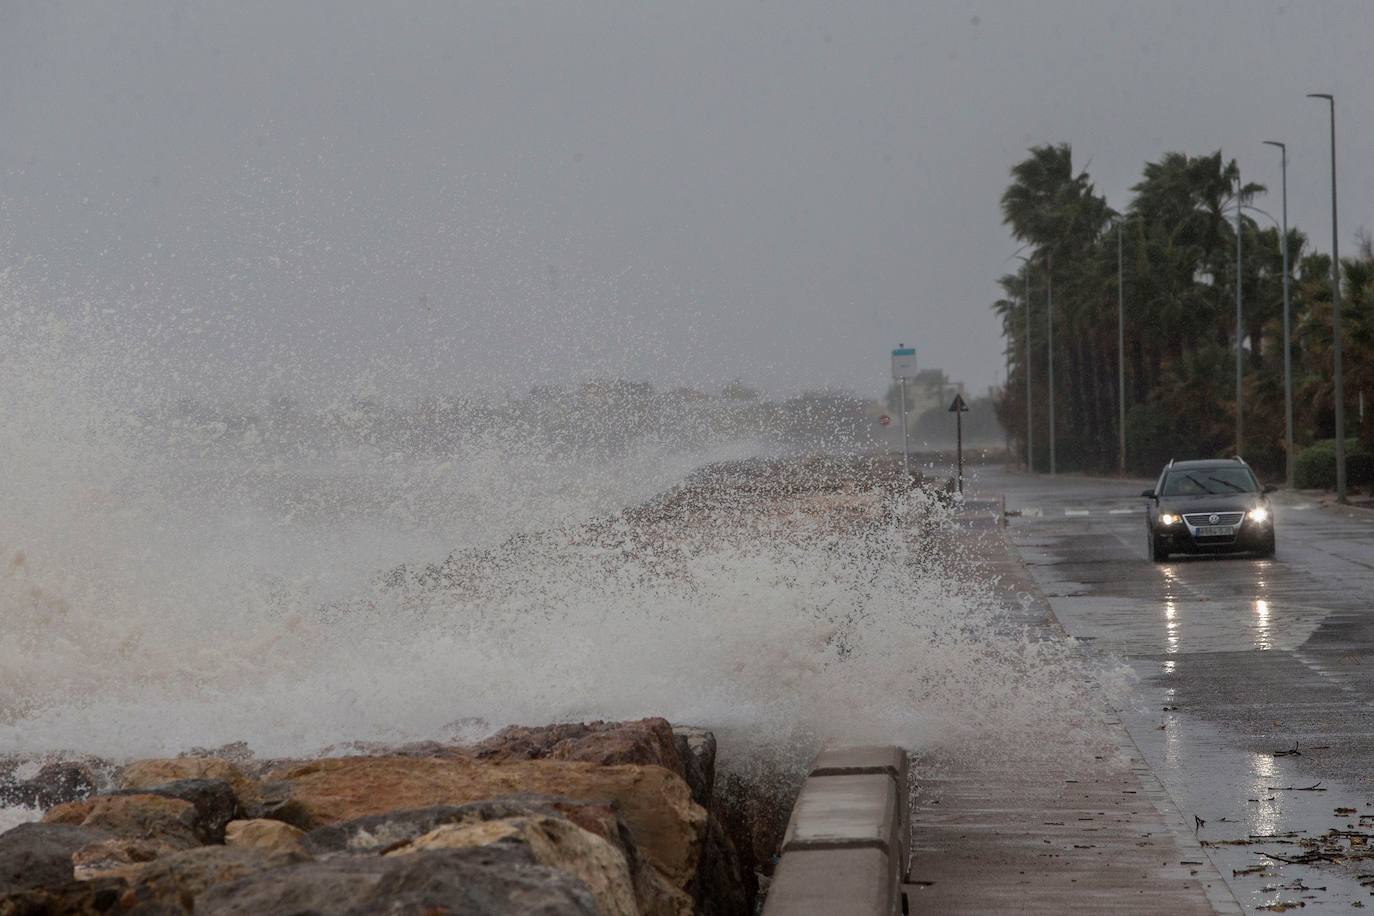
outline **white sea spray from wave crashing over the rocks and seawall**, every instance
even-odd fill
[[[655,714],[801,759],[1007,742],[1076,702],[1073,654],[937,542],[948,500],[745,460],[786,446],[739,405],[632,431],[605,397],[431,405],[448,438],[357,398],[249,416],[169,405],[109,321],[8,317],[0,753]]]

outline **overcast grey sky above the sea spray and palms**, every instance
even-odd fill
[[[1370,0],[0,0],[0,271],[228,382],[877,394],[903,341],[981,389],[1026,147],[1114,206],[1220,147],[1276,213],[1287,140],[1329,250],[1334,92],[1349,246],[1370,36]]]

